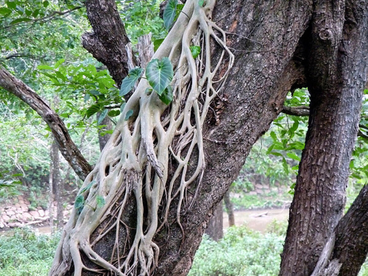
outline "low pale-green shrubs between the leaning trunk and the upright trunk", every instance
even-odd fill
[[[230,227],[218,243],[204,236],[190,276],[278,275],[283,236]]]

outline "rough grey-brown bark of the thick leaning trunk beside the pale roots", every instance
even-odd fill
[[[224,115],[217,125],[209,116],[203,127],[207,167],[201,185],[188,188],[188,195],[197,195],[197,198],[192,205],[188,202],[182,206],[183,232],[176,223],[176,198],[169,210],[169,229],[163,228],[155,235],[155,244],[160,249],[157,275],[185,275],[188,272],[208,220],[207,214],[240,171],[252,144],[282,109],[287,90],[303,78],[302,67],[293,59],[293,53],[308,27],[312,3],[217,1],[214,14],[214,21],[227,32],[227,45],[236,57],[225,85],[227,89],[219,95],[224,103]],[[213,60],[221,53],[217,50],[213,48]],[[191,160],[195,161],[195,156]],[[170,173],[169,168],[169,176]],[[129,227],[135,227],[135,210],[134,201],[129,201],[121,215]],[[104,226],[101,227],[94,233],[100,233]],[[126,237],[124,229],[120,229],[123,240]],[[134,235],[134,231],[130,234]],[[93,244],[93,250],[109,260],[115,236],[116,233],[109,232]],[[89,262],[85,256],[82,258],[86,265],[96,267],[93,261]],[[73,269],[71,266],[68,273],[72,274]],[[84,275],[93,273],[84,271]]]

